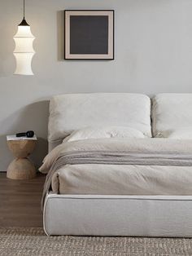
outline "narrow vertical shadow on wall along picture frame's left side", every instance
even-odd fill
[[[59,61],[64,59],[64,11],[57,11],[57,58]]]

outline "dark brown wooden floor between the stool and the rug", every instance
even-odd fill
[[[0,173],[0,227],[42,227],[44,180],[42,174],[35,179],[14,180]]]

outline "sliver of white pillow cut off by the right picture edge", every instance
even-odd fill
[[[192,126],[177,128],[177,130],[164,130],[164,132],[159,132],[156,137],[168,139],[192,139]]]

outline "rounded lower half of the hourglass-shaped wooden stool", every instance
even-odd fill
[[[9,179],[33,179],[36,177],[35,166],[28,158],[15,158],[7,169]]]

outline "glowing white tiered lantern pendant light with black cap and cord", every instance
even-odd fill
[[[33,75],[31,63],[35,51],[33,50],[34,36],[25,18],[18,25],[17,33],[14,36],[16,59],[16,75]]]

